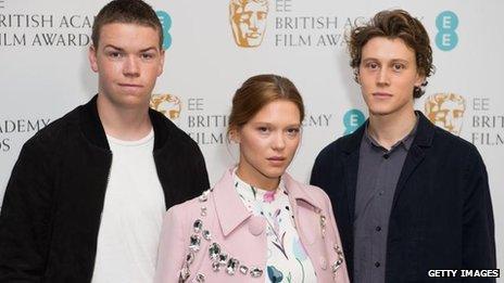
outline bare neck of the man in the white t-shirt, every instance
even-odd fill
[[[136,141],[149,134],[152,124],[146,107],[117,107],[101,94],[97,101],[98,115],[105,133],[118,140]]]

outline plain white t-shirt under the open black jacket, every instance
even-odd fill
[[[154,132],[139,141],[106,138],[112,167],[91,282],[150,283],[166,210],[152,155]]]

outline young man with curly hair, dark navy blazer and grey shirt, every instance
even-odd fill
[[[331,198],[353,282],[429,282],[439,280],[429,278],[434,269],[495,269],[481,156],[414,111],[433,68],[424,26],[405,11],[382,11],[352,30],[349,49],[369,119],[319,153],[311,183]]]

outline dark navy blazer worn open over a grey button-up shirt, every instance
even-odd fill
[[[428,278],[430,269],[495,269],[492,203],[481,156],[471,143],[433,126],[421,113],[418,115],[416,137],[392,203],[386,282],[440,280]],[[324,189],[332,202],[351,276],[364,127],[326,146],[315,160],[311,178],[311,183]]]

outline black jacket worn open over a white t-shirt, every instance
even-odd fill
[[[169,208],[206,190],[209,177],[197,143],[162,114],[149,115]],[[111,164],[97,97],[24,144],[0,215],[0,282],[91,281]]]

